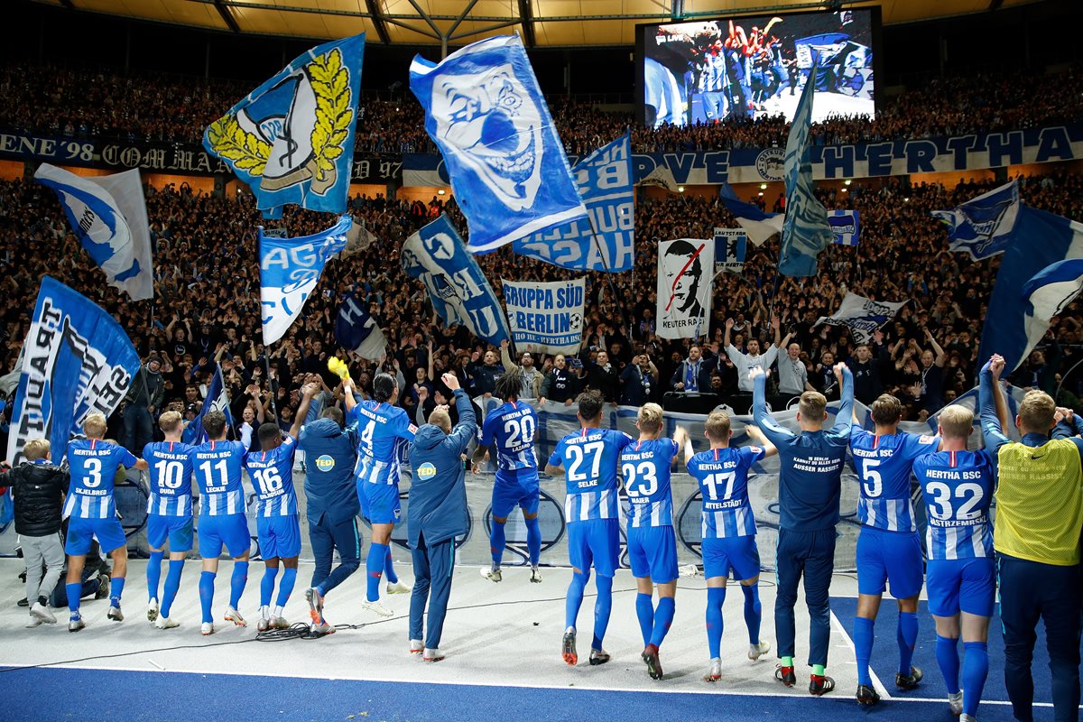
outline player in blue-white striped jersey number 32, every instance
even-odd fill
[[[990,449],[968,451],[974,413],[949,406],[938,418],[940,450],[914,461],[928,510],[926,588],[937,626],[937,664],[948,686],[948,704],[963,722],[974,722],[989,674],[989,620],[993,616],[996,569],[989,506],[996,471]],[[965,657],[960,690],[958,638]]]

